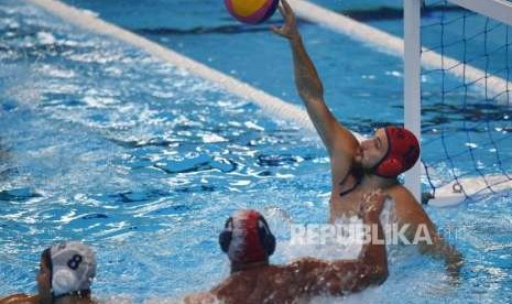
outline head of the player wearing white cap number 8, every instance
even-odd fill
[[[36,276],[41,302],[53,303],[66,295],[89,296],[95,275],[96,258],[89,247],[77,241],[50,247],[41,254]]]

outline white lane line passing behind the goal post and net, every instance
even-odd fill
[[[307,21],[342,33],[382,53],[400,57],[404,55],[404,41],[400,37],[305,0],[288,0],[288,2],[295,13]],[[483,91],[487,88],[488,93],[491,94],[490,98],[494,96],[495,101],[500,104],[508,104],[509,101],[508,95],[511,93],[506,91],[508,88],[512,88],[512,83],[506,79],[488,75],[479,68],[469,64],[464,65],[455,58],[446,55],[442,56],[426,47],[423,47],[422,65],[428,69],[444,68],[446,73],[466,79],[468,84],[475,82]]]

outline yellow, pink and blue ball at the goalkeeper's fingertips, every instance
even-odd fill
[[[262,23],[274,14],[279,0],[224,0],[229,13],[243,23]]]

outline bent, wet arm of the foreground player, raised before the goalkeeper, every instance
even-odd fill
[[[388,258],[385,252],[384,234],[379,222],[379,215],[385,196],[381,192],[367,195],[361,208],[364,225],[377,229],[378,240],[366,243],[357,260],[323,261],[317,259],[302,259],[295,262],[301,269],[298,275],[304,280],[302,285],[306,291],[315,294],[329,293],[333,295],[347,294],[378,285],[388,278]]]

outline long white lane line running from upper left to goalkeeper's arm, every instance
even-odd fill
[[[190,74],[197,75],[204,79],[219,85],[227,91],[246,98],[264,112],[271,115],[273,118],[291,121],[294,124],[314,132],[314,126],[305,110],[299,107],[286,102],[275,96],[264,93],[261,89],[254,88],[246,83],[242,83],[231,76],[221,72],[213,69],[201,63],[192,58],[181,55],[167,47],[164,47],[155,42],[152,42],[143,36],[137,35],[122,28],[108,23],[90,12],[74,8],[55,0],[26,0],[30,3],[36,4],[40,8],[51,12],[63,20],[75,24],[81,29],[89,30],[102,35],[112,36],[127,44],[133,45],[138,48],[144,50],[149,54],[163,59],[176,67],[184,68]],[[355,133],[358,139],[362,139],[360,134]]]

